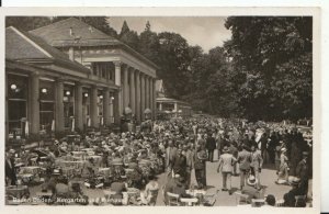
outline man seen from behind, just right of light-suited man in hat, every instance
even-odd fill
[[[248,173],[250,171],[251,154],[247,150],[247,146],[242,145],[242,150],[238,153],[238,162],[240,169],[240,190],[246,185]]]

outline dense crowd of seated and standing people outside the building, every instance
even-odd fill
[[[295,206],[296,195],[307,195],[311,178],[313,142],[307,136],[311,136],[311,129],[303,133],[295,125],[283,123],[215,117],[155,121],[150,129],[136,133],[89,133],[73,140],[53,139],[50,146],[42,148],[8,148],[5,183],[18,184],[19,170],[14,167],[18,160],[24,166],[43,162],[45,191],[70,191],[63,184],[70,187],[70,179],[83,178],[89,188],[109,185],[115,192],[111,195],[113,199],[122,200],[123,192],[133,188],[143,192],[138,204],[156,205],[161,188],[157,176],[164,172],[162,191],[164,203],[169,204],[167,192],[191,198],[189,190],[206,191],[206,161],[219,159],[217,172],[223,176],[222,191],[232,193],[231,176],[240,177],[240,191],[246,185],[260,191],[263,167],[275,166],[275,183],[293,188],[283,195],[284,205]],[[86,161],[76,173],[65,178],[59,159]],[[101,168],[109,169],[110,176],[101,174]],[[196,183],[191,181],[193,177]],[[273,204],[273,195],[268,198]]]

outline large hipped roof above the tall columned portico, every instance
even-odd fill
[[[35,29],[30,31],[30,33],[41,36],[54,47],[120,46],[135,57],[145,61],[147,65],[158,69],[157,65],[137,53],[135,49],[76,18],[68,18],[46,26]]]

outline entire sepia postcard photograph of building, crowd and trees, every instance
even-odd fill
[[[314,207],[315,21],[5,15],[5,206]]]

